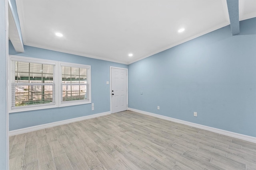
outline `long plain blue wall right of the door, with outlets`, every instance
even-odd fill
[[[256,18],[132,63],[128,80],[130,108],[256,137]]]

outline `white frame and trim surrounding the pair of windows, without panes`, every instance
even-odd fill
[[[54,65],[54,72],[53,76],[55,78],[54,80],[54,96],[55,96],[55,103],[51,104],[34,104],[34,105],[28,105],[28,106],[18,106],[18,107],[12,107],[12,82],[13,82],[13,75],[12,74],[12,61],[19,61],[19,62],[27,62],[27,63],[38,63],[38,64],[52,64]],[[88,68],[87,69],[87,84],[89,89],[87,90],[89,95],[89,100],[74,100],[74,101],[68,101],[68,102],[61,102],[62,98],[62,92],[61,84],[62,84],[62,70],[61,70],[61,64],[66,64],[66,66],[73,66],[73,67],[82,67],[82,68]],[[15,70],[15,69],[14,69]],[[15,75],[14,75],[15,76]],[[91,103],[91,66],[85,65],[85,64],[76,64],[76,63],[66,63],[61,61],[53,61],[53,60],[46,60],[46,59],[38,59],[38,58],[32,58],[32,57],[23,57],[23,56],[16,56],[16,55],[9,55],[9,63],[8,63],[8,112],[9,113],[16,113],[21,111],[32,111],[32,110],[39,110],[39,109],[50,109],[50,108],[56,108],[56,107],[66,107],[66,106],[75,106],[75,105],[81,105],[81,104],[90,104]]]

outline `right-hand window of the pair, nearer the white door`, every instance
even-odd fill
[[[90,103],[90,66],[60,63],[61,105]]]

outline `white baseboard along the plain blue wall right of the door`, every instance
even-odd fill
[[[196,123],[191,123],[191,122],[188,122],[188,121],[183,121],[183,120],[180,120],[180,119],[174,119],[172,117],[158,115],[158,114],[155,114],[155,113],[150,113],[150,112],[141,111],[141,110],[137,110],[137,109],[128,108],[128,110],[134,111],[134,112],[137,112],[137,113],[142,113],[144,115],[158,117],[160,119],[165,119],[165,120],[168,120],[168,121],[173,121],[173,122],[176,122],[176,123],[181,123],[181,124],[192,126],[192,127],[197,127],[199,129],[204,129],[206,131],[219,133],[219,134],[226,135],[226,136],[229,136],[229,137],[234,137],[234,138],[237,138],[237,139],[242,139],[242,140],[245,140],[245,141],[256,143],[256,137],[242,135],[242,134],[239,134],[239,133],[225,131],[225,130],[222,130],[222,129],[217,129],[217,128],[214,128],[214,127],[209,127],[209,126],[204,126],[204,125],[200,125],[200,124],[196,124]]]

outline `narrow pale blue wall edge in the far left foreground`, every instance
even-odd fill
[[[0,1],[0,169],[8,169],[8,114],[6,109],[6,47],[8,41],[6,36],[6,0]]]

